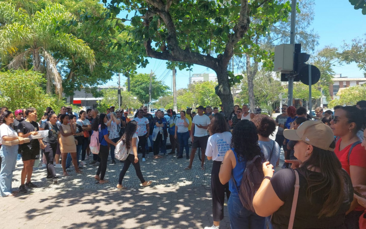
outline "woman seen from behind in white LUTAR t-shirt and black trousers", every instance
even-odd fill
[[[224,160],[226,152],[230,149],[232,135],[229,132],[224,115],[220,113],[213,116],[208,130],[210,137],[207,141],[205,154],[208,160],[213,160],[211,170],[213,225],[205,227],[205,229],[214,229],[219,228],[220,221],[224,218],[225,192],[227,199],[230,196],[229,183],[221,184],[219,172],[221,162]]]

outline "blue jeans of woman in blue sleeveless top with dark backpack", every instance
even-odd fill
[[[247,210],[240,202],[238,193],[231,193],[228,200],[228,213],[231,229],[250,228],[263,229],[265,217],[255,214],[253,211]]]

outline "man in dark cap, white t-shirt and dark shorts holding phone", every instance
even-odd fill
[[[199,106],[196,108],[198,115],[193,117],[192,127],[191,127],[191,140],[192,140],[192,150],[191,156],[189,160],[189,165],[184,170],[192,169],[194,155],[196,153],[197,148],[201,148],[201,169],[205,169],[203,163],[205,163],[205,152],[208,141],[207,128],[210,124],[210,118],[207,115],[203,114],[205,108],[203,106]]]

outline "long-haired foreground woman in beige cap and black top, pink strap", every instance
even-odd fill
[[[264,178],[253,199],[255,212],[272,215],[276,229],[344,228],[353,191],[351,179],[334,153],[332,129],[306,121],[297,130],[284,130],[284,136],[296,141],[298,160],[288,161],[295,170],[283,169],[273,175],[273,166],[263,164]]]

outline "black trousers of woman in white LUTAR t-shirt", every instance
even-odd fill
[[[220,165],[220,161],[214,160],[211,170],[213,221],[221,221],[224,218],[225,192],[227,199],[230,196],[229,182],[223,185],[219,179]]]

